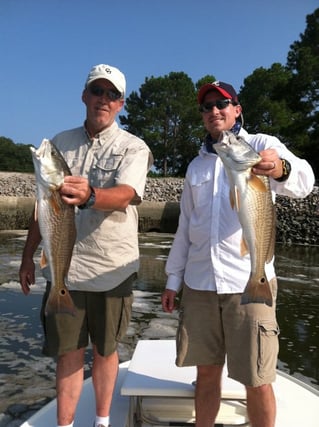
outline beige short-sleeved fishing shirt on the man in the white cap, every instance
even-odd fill
[[[136,198],[125,211],[75,209],[76,243],[67,278],[71,290],[103,292],[115,288],[139,268],[138,214],[152,154],[141,139],[114,122],[90,139],[84,127],[64,131],[52,142],[72,175],[92,187],[130,185]]]

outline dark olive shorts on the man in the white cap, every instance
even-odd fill
[[[134,279],[127,279],[115,292],[70,291],[76,307],[75,316],[70,314],[44,315],[44,307],[50,283],[43,297],[41,321],[44,330],[43,354],[60,356],[70,351],[96,345],[101,356],[108,356],[117,349],[118,342],[125,336],[131,320]],[[128,283],[128,282],[132,283]],[[125,285],[118,295],[117,289]],[[123,286],[124,288],[124,286]]]

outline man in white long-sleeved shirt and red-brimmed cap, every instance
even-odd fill
[[[172,312],[182,289],[177,332],[178,366],[197,366],[196,427],[211,427],[221,399],[221,375],[244,384],[253,427],[274,427],[279,328],[274,260],[266,266],[272,304],[241,304],[250,274],[250,257],[238,248],[242,228],[229,203],[229,182],[214,149],[222,131],[243,137],[262,160],[253,168],[270,177],[273,194],[306,197],[314,185],[310,165],[277,138],[250,135],[242,127],[242,107],[235,89],[215,81],[198,92],[208,132],[199,155],[190,163],[180,204],[179,226],[167,260],[164,311]]]

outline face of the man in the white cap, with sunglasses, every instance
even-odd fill
[[[110,93],[108,90],[112,92]],[[86,126],[93,135],[111,126],[123,107],[124,100],[114,99],[112,93],[116,93],[116,89],[111,82],[105,79],[94,80],[83,91],[82,101],[87,109]]]

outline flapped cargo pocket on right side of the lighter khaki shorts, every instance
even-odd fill
[[[271,378],[275,374],[279,351],[279,327],[274,321],[258,322],[258,375]]]

